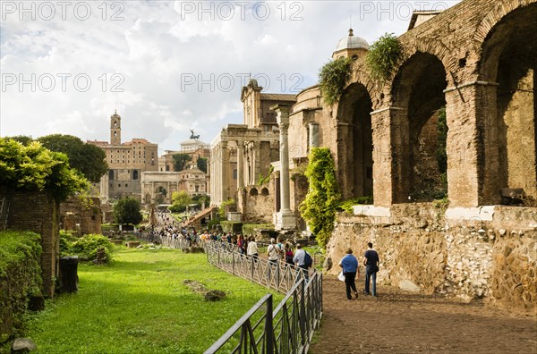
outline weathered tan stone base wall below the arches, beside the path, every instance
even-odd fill
[[[537,308],[536,208],[491,207],[481,216],[469,209],[458,217],[423,203],[358,212],[338,217],[327,246],[334,262],[347,247],[362,257],[371,241],[379,251],[380,283],[410,281],[427,294]]]

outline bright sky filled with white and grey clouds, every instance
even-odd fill
[[[264,92],[317,81],[352,21],[370,44],[402,34],[412,9],[458,1],[4,1],[0,136],[145,138],[179,149],[242,123],[249,77]]]

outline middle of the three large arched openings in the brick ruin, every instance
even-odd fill
[[[447,197],[446,87],[446,70],[435,55],[418,52],[397,72],[392,89],[399,110],[392,126],[396,202]]]

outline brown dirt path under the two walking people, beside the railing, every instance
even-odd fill
[[[363,289],[363,278],[357,280]],[[345,284],[323,281],[323,319],[310,353],[537,353],[537,316],[420,296],[379,286],[347,300]]]

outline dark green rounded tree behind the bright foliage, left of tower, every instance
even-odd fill
[[[69,157],[72,168],[79,170],[94,183],[108,171],[105,151],[95,145],[85,144],[72,135],[52,134],[38,139],[51,151],[62,152]]]

